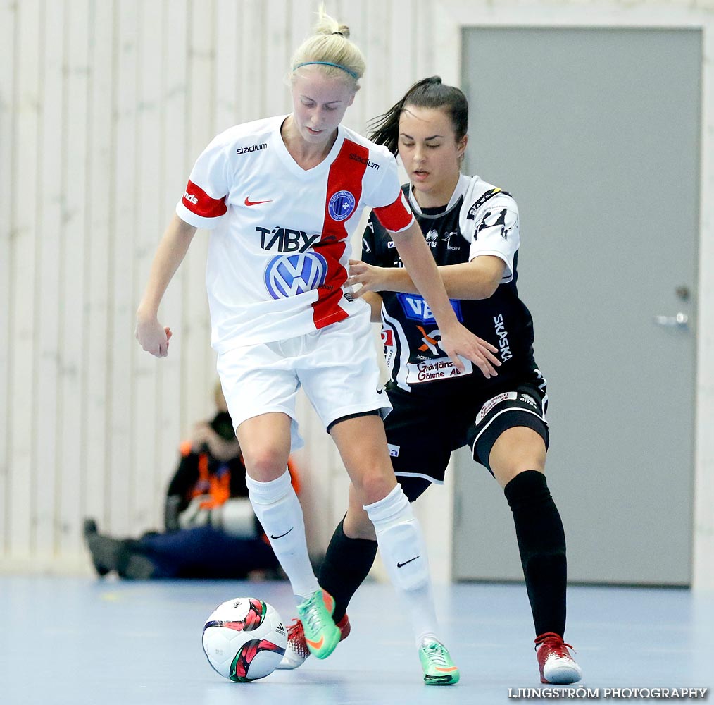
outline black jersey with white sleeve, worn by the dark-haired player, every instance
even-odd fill
[[[458,320],[498,348],[501,367],[486,379],[476,365],[454,368],[439,343],[441,336],[423,297],[379,292],[382,299],[382,342],[391,380],[412,395],[497,394],[539,378],[533,359],[533,319],[518,298],[518,206],[507,192],[479,177],[461,175],[442,212],[421,209],[408,184],[403,186],[437,265],[470,262],[480,255],[500,257],[506,268],[496,292],[485,300],[451,300]],[[362,259],[378,267],[403,267],[394,242],[375,217],[370,217],[362,243]],[[463,359],[463,358],[462,358]],[[459,378],[458,384],[453,380]]]

